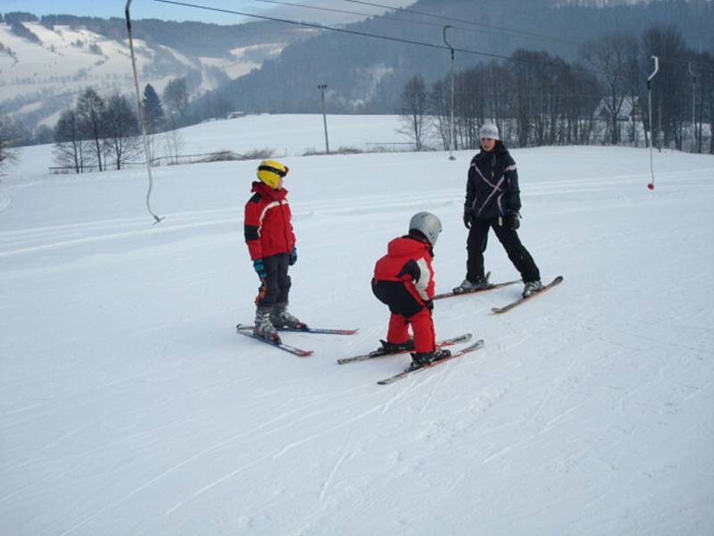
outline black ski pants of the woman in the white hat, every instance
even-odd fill
[[[466,249],[469,252],[466,261],[466,279],[475,283],[484,278],[484,252],[488,244],[488,230],[493,228],[511,263],[520,272],[521,279],[524,282],[540,281],[538,267],[526,247],[520,243],[519,233],[514,229],[503,227],[500,223],[500,218],[474,218],[471,222],[469,239],[466,241]]]

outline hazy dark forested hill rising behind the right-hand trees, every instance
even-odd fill
[[[415,11],[444,19],[410,13]],[[558,6],[552,0],[421,0],[389,17],[346,28],[444,46],[441,24],[451,24],[454,28],[448,37],[456,48],[496,56],[525,48],[574,60],[579,44],[588,39],[618,30],[640,38],[652,26],[674,25],[694,50],[714,50],[714,3],[704,0],[601,8]],[[489,59],[488,55],[457,53],[456,65],[463,69]],[[436,80],[448,69],[449,54],[438,48],[325,31],[287,46],[278,58],[263,63],[261,70],[233,80],[206,98],[220,96],[237,109],[316,112],[320,109],[317,84],[327,83],[333,112],[394,113],[405,80],[415,74]]]

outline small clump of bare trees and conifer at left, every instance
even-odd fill
[[[162,98],[151,84],[142,97],[149,158],[154,158],[154,134],[165,132],[165,152],[178,155],[178,128],[186,123],[188,93],[186,80],[175,79],[164,88]],[[164,109],[165,108],[165,109]],[[54,162],[76,173],[120,170],[136,162],[144,147],[136,105],[119,93],[101,96],[94,88],[85,89],[76,105],[62,111],[54,128]]]

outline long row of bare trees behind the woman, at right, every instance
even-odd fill
[[[647,78],[652,80],[652,128]],[[693,75],[692,75],[693,73]],[[417,149],[476,148],[479,125],[494,121],[513,147],[649,143],[714,154],[714,56],[689,49],[675,27],[642,38],[612,32],[589,41],[580,60],[518,50],[508,62],[481,63],[428,84],[403,86],[403,132]],[[453,138],[453,139],[452,139]]]

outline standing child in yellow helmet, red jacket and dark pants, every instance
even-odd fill
[[[245,204],[245,243],[261,280],[253,333],[275,342],[280,341],[276,328],[307,328],[287,312],[291,285],[287,269],[297,261],[292,214],[283,188],[288,171],[275,160],[262,161],[257,170],[260,181],[253,182],[253,197]]]

